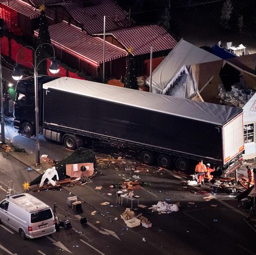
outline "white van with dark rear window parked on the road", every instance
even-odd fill
[[[22,239],[55,233],[49,205],[28,193],[10,196],[0,203],[0,222],[20,233]]]

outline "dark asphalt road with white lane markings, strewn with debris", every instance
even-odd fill
[[[25,147],[28,154],[33,154],[33,139],[17,135],[11,126],[7,126],[7,130],[13,142]],[[40,142],[41,154],[48,154],[51,158],[62,159],[71,153],[43,138]],[[107,147],[105,152],[108,152]],[[124,160],[126,165],[136,162],[133,159]],[[0,153],[0,162],[0,199],[5,196],[4,190],[9,180],[13,180],[15,191],[19,193],[22,192],[23,182],[37,176],[37,172],[28,171],[25,164],[4,152]],[[0,254],[256,254],[256,244],[253,242],[255,232],[245,223],[246,216],[230,205],[235,204],[230,195],[219,192],[212,200],[206,201],[204,198],[212,192],[209,185],[205,185],[203,190],[188,187],[186,179],[167,170],[151,171],[149,168],[148,172],[138,174],[144,182],[153,183],[136,191],[141,196],[140,204],[147,205],[147,208],[138,208],[136,212],[142,212],[153,223],[152,228],[126,228],[119,217],[130,204],[127,205],[125,201],[123,205],[116,203],[115,191],[108,187],[114,182],[132,178],[120,163],[117,169],[111,166],[99,167],[93,182],[83,186],[61,188],[60,191],[31,192],[52,208],[57,203],[60,219],[68,217],[73,228],[61,229],[60,233],[50,238],[22,241],[18,233],[1,225]],[[95,190],[95,186],[99,185],[102,185],[102,190]],[[83,201],[83,213],[80,215],[68,210],[69,192]],[[104,201],[110,204],[100,205]],[[153,213],[148,208],[157,201],[179,202],[180,211],[171,214]],[[136,204],[134,209],[137,209]],[[98,213],[92,216],[94,210]],[[83,227],[79,217],[86,217],[89,226]]]

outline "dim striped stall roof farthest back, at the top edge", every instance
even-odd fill
[[[62,5],[71,17],[83,25],[87,34],[103,32],[103,17],[106,15],[106,31],[130,27],[129,14],[113,0],[101,0],[99,4],[81,7],[77,2]]]

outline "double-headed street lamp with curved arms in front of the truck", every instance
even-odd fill
[[[37,64],[36,63],[36,53],[37,53],[37,50],[39,47],[41,47],[42,45],[50,45],[53,49],[53,57],[46,57],[45,59],[39,61],[39,63]],[[54,50],[54,47],[49,44],[49,43],[43,43],[41,45],[39,45],[36,50],[31,47],[31,46],[23,46],[19,49],[19,51],[17,52],[16,54],[16,65],[15,67],[13,68],[13,73],[12,73],[12,78],[14,80],[20,80],[22,78],[22,73],[20,71],[20,68],[18,67],[18,64],[22,64],[22,63],[26,63],[26,62],[21,62],[21,63],[18,63],[17,62],[17,57],[18,57],[18,54],[19,52],[23,49],[23,48],[30,48],[33,52],[34,52],[34,64],[33,63],[30,63],[33,68],[34,68],[34,84],[35,84],[35,124],[36,124],[36,133],[35,133],[35,136],[36,136],[36,165],[40,164],[40,149],[39,149],[39,120],[38,120],[38,85],[37,85],[37,69],[38,69],[38,66],[39,64],[41,64],[42,61],[44,60],[47,60],[47,59],[53,59],[51,61],[51,65],[50,65],[50,72],[51,73],[58,73],[59,72],[59,67],[58,67],[58,64],[57,64],[57,61],[55,60],[55,50]]]

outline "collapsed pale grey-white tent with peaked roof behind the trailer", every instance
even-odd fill
[[[220,57],[181,39],[152,73],[152,92],[186,98],[197,91],[192,64],[221,60]],[[147,79],[150,86],[150,77]]]

